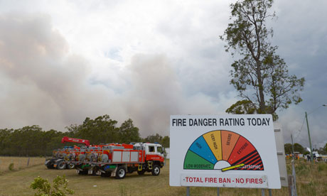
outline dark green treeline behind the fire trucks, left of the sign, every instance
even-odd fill
[[[86,118],[82,124],[66,127],[68,131],[43,131],[40,126],[25,126],[21,129],[0,129],[0,156],[50,156],[53,149],[63,146],[80,145],[79,143],[61,143],[63,136],[83,138],[91,144],[158,142],[169,147],[169,137],[159,134],[141,138],[139,128],[132,119],[117,126],[117,121],[109,115],[95,119]]]

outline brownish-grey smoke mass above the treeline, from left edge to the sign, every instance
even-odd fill
[[[142,136],[168,135],[171,114],[214,114],[217,105],[200,92],[186,95],[166,55],[134,55],[112,87],[92,84],[90,62],[70,53],[50,16],[0,17],[1,128],[38,124],[63,131],[85,117],[128,118]],[[126,85],[129,84],[129,85]],[[118,86],[118,87],[117,87]]]

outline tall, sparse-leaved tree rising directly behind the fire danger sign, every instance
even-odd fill
[[[220,39],[227,43],[226,52],[232,50],[233,58],[240,57],[230,71],[230,84],[245,101],[238,104],[244,106],[245,112],[274,114],[276,120],[277,109],[302,101],[299,91],[305,80],[289,75],[286,63],[276,54],[278,47],[270,43],[273,31],[266,28],[266,21],[275,17],[275,13],[269,13],[272,3],[273,0],[243,0],[231,4],[232,23]],[[237,111],[232,107],[227,112]]]

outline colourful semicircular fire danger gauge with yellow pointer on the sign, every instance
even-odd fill
[[[186,170],[264,170],[256,148],[232,131],[210,131],[198,137],[184,159]]]

